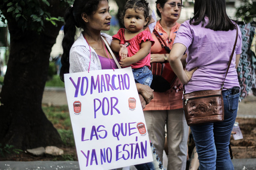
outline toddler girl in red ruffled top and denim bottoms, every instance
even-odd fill
[[[151,85],[150,49],[154,45],[151,33],[144,30],[151,20],[150,7],[145,0],[128,0],[121,14],[125,28],[113,36],[111,49],[119,52],[120,65],[131,66],[135,82]]]

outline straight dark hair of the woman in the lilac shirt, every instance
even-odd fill
[[[195,0],[194,17],[189,20],[192,25],[205,24],[204,17],[209,18],[205,28],[214,31],[229,31],[236,28],[227,16],[225,0]]]

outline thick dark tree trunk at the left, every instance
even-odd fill
[[[59,1],[55,2],[59,4]],[[52,16],[63,16],[63,9],[56,6],[53,9],[62,14]],[[17,28],[15,20],[8,20],[10,55],[0,93],[2,145],[10,144],[26,150],[62,144],[58,131],[41,107],[51,48],[62,24],[58,23],[58,27],[55,27],[49,22],[45,23],[44,32],[38,34],[23,32]]]

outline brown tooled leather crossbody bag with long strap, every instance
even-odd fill
[[[185,88],[183,88],[183,110],[188,125],[198,125],[224,120],[222,89],[236,48],[237,37],[238,28],[236,27],[236,41],[230,55],[226,75],[220,90],[194,91],[185,94]]]

